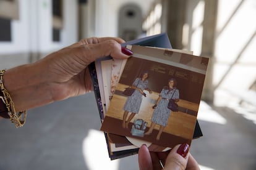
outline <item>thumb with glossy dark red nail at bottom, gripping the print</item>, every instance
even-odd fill
[[[189,157],[187,153],[189,153],[188,144],[176,145],[166,158],[164,169],[186,169]]]

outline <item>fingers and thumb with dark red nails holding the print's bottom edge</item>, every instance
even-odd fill
[[[186,145],[176,145],[171,152],[149,152],[147,146],[142,145],[138,159],[140,170],[163,169],[160,161],[164,169],[200,169]]]

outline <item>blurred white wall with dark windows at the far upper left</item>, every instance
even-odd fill
[[[52,41],[51,0],[19,1],[19,20],[12,20],[12,41],[0,42],[0,54],[51,52],[77,41],[77,1],[64,0],[61,42]]]

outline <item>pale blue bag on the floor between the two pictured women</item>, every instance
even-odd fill
[[[130,133],[132,136],[143,137],[145,129],[147,128],[147,124],[147,121],[144,121],[143,119],[135,119]]]

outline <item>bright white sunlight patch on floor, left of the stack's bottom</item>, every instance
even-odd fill
[[[108,156],[108,148],[103,132],[93,129],[88,131],[88,136],[83,140],[82,149],[88,169],[118,169],[119,160],[111,161]]]

